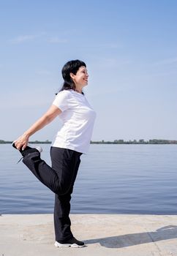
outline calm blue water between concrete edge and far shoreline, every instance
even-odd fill
[[[50,145],[42,145],[50,165]],[[177,214],[176,145],[91,145],[81,157],[72,213]],[[53,193],[11,145],[0,145],[0,214],[53,213]]]

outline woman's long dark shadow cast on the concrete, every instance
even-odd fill
[[[177,226],[170,225],[161,227],[154,232],[145,232],[145,233],[134,233],[127,234],[123,236],[110,236],[106,238],[97,238],[86,240],[86,244],[95,244],[99,243],[101,246],[107,248],[123,248],[138,244],[148,244],[152,242],[168,240],[177,238]]]

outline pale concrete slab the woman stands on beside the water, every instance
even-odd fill
[[[83,248],[56,248],[53,215],[2,215],[0,256],[177,256],[176,215],[71,214]]]

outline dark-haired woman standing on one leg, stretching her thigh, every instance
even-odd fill
[[[68,61],[61,70],[64,84],[48,111],[12,143],[23,157],[23,163],[55,193],[55,246],[83,247],[71,232],[70,199],[80,165],[81,154],[89,150],[95,112],[83,94],[88,84],[88,72],[83,61]],[[59,116],[63,125],[50,148],[52,166],[41,159],[42,148],[28,145],[29,138]]]

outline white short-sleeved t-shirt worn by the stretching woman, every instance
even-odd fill
[[[62,113],[63,126],[57,132],[52,146],[69,148],[80,153],[89,150],[96,113],[83,94],[73,90],[60,91],[53,101]]]

